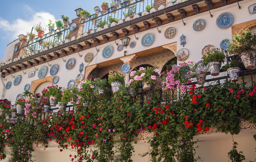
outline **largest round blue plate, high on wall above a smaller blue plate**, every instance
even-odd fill
[[[216,24],[219,28],[225,29],[230,27],[233,21],[234,21],[234,17],[231,13],[223,12],[216,19]]]

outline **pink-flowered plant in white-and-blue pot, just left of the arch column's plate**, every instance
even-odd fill
[[[120,89],[122,84],[124,84],[125,82],[124,78],[125,76],[121,74],[121,71],[113,72],[109,70],[108,83],[111,85],[113,93],[116,93],[116,91]]]

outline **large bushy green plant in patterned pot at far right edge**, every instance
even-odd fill
[[[235,33],[228,44],[229,54],[237,54],[241,57],[246,69],[255,68],[256,60],[256,34],[249,29],[243,30],[243,34]]]

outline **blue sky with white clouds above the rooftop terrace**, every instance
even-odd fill
[[[61,19],[61,14],[76,18],[77,8],[94,13],[93,8],[102,2],[110,0],[82,0],[82,1],[56,1],[56,0],[11,0],[1,2],[0,10],[0,60],[3,59],[6,47],[16,40],[19,34],[30,32],[33,26],[41,22],[46,28],[48,20]]]

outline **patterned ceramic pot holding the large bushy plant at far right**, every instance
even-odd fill
[[[249,54],[252,56],[250,56]],[[255,68],[255,65],[256,65],[255,55],[256,55],[255,51],[250,51],[250,52],[246,51],[241,54],[240,57],[245,65],[245,69]]]

